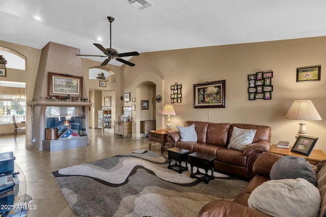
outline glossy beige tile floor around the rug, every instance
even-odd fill
[[[26,148],[22,135],[18,135],[16,141],[13,135],[0,137],[0,152],[14,152],[15,163],[25,176],[26,193],[36,205],[36,209],[29,211],[29,217],[75,216],[51,172],[141,148],[148,150],[147,138],[123,139],[114,137],[110,132],[102,134],[97,130],[90,130],[89,134],[90,143],[86,147],[53,152]],[[151,149],[160,153],[160,144],[152,142]],[[167,150],[164,153],[167,155]],[[20,188],[23,188],[23,182],[20,182]]]

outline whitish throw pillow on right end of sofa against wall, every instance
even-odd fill
[[[233,128],[228,148],[243,151],[248,145],[253,143],[257,130],[247,130]]]

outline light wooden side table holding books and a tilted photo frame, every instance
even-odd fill
[[[304,156],[302,154],[291,152],[292,147],[290,148],[278,148],[276,144],[272,145],[269,149],[269,152],[280,154],[283,156],[297,156],[297,157],[303,157],[306,159],[310,164],[316,165],[320,161],[325,160],[326,157],[324,156],[324,153],[322,150],[319,149],[312,149],[309,156]]]

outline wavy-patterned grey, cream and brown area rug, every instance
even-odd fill
[[[168,169],[145,149],[52,174],[76,216],[197,216],[212,200],[233,200],[247,182],[214,172],[208,184]],[[196,168],[195,168],[196,169]]]

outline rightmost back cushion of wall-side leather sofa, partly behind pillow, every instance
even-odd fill
[[[267,141],[270,142],[271,137],[271,129],[268,126],[262,126],[262,125],[250,125],[248,123],[232,123],[230,130],[229,130],[229,140],[232,135],[232,130],[234,127],[241,128],[241,129],[252,129],[257,130],[253,143],[258,141]],[[228,141],[229,142],[229,141]]]

